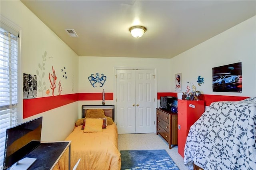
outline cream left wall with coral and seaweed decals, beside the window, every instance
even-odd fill
[[[23,73],[37,75],[39,63],[42,65],[42,56],[47,52],[45,76],[46,89],[50,89],[49,73],[52,73],[52,66],[57,75],[57,81],[61,80],[62,95],[78,93],[78,56],[72,51],[56,34],[54,34],[41,20],[39,20],[20,1],[1,1],[1,15],[22,28],[21,34],[21,71]],[[66,67],[68,79],[61,79],[61,69]],[[21,77],[22,78],[22,77]],[[39,79],[39,77],[38,77]],[[57,88],[56,88],[57,89]],[[51,91],[51,90],[50,90]],[[58,91],[56,90],[56,94]],[[20,95],[23,95],[22,93]],[[38,92],[37,97],[48,97],[46,91]],[[20,103],[22,104],[22,103]],[[38,103],[40,105],[40,103]],[[43,116],[42,140],[64,140],[74,128],[77,115],[78,102],[59,107],[22,121],[28,121]],[[31,107],[37,107],[33,105]],[[20,117],[23,117],[22,109]],[[63,129],[65,127],[65,129]]]

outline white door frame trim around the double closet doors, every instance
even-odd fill
[[[116,109],[116,70],[123,69],[123,70],[154,70],[154,108],[157,108],[157,69],[156,68],[145,68],[145,67],[114,67],[113,71],[113,104],[115,106],[115,118],[117,117],[117,109]],[[117,121],[117,119],[116,119]],[[154,119],[154,123],[156,125],[156,118]],[[156,133],[156,128],[155,132]]]

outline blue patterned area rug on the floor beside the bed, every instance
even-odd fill
[[[121,170],[179,170],[166,150],[120,150]]]

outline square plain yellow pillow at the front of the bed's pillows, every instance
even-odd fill
[[[84,132],[102,132],[103,119],[86,118]]]

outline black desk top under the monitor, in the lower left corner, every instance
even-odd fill
[[[24,158],[36,158],[36,161],[28,170],[50,170],[69,145],[69,141],[41,143],[37,148],[24,156]]]

